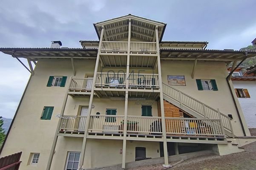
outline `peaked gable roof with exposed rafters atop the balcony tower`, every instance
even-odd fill
[[[164,30],[167,24],[158,21],[149,20],[135,15],[126,15],[123,17],[106,20],[93,24],[100,39],[101,27],[103,26],[105,41],[120,41],[128,38],[128,26],[131,20],[131,38],[139,41],[154,42],[155,28],[158,26],[158,37],[161,42]]]

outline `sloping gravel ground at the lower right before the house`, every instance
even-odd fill
[[[256,142],[244,146],[245,152],[225,156],[208,155],[189,159],[171,168],[161,164],[130,170],[256,170]],[[174,164],[175,162],[171,162]]]

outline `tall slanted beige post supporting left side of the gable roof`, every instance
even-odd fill
[[[103,34],[104,34],[104,26],[102,26],[101,28],[102,28],[101,29],[101,37],[100,37],[100,42],[99,42],[97,59],[96,59],[96,63],[95,63],[94,76],[93,76],[93,80],[92,80],[92,91],[91,91],[89,107],[88,107],[88,116],[87,116],[86,123],[85,123],[83,144],[82,144],[81,156],[80,156],[80,161],[79,161],[80,168],[83,166],[83,160],[84,160],[85,149],[86,149],[86,141],[87,141],[87,132],[88,132],[88,128],[89,128],[90,115],[92,112],[92,100],[93,100],[93,96],[94,96],[94,87],[95,87],[95,82],[96,82],[96,77],[97,77],[97,72],[98,72],[98,65],[100,62],[100,53],[101,53],[102,39],[103,39]]]

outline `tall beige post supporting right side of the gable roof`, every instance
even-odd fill
[[[166,140],[166,127],[165,127],[165,118],[164,118],[164,97],[163,97],[163,86],[162,86],[162,74],[161,74],[161,62],[159,54],[159,39],[158,39],[158,26],[155,27],[155,41],[156,41],[156,51],[157,51],[157,63],[158,63],[158,80],[160,88],[160,105],[161,105],[161,122],[163,130],[163,142],[164,142],[164,166],[170,166],[168,161],[168,152],[167,152],[167,140]]]

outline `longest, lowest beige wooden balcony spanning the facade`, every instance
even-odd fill
[[[83,137],[85,116],[61,116],[60,119],[60,136]],[[220,119],[166,117],[165,125],[169,142],[225,142]],[[123,139],[124,115],[91,115],[87,133],[88,138],[93,139]],[[127,139],[162,141],[162,137],[161,117],[127,116]]]

